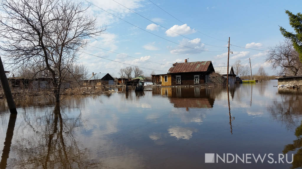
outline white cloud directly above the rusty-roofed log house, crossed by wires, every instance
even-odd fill
[[[178,45],[176,48],[171,49],[170,53],[171,54],[198,54],[201,53],[202,51],[194,50],[194,49],[199,49],[199,50],[204,50],[204,44],[199,43],[200,38],[196,38],[193,40],[188,40],[188,39],[182,39],[180,41],[180,45]],[[184,45],[184,46],[182,46]],[[190,48],[187,48],[185,46],[188,46]],[[191,49],[194,48],[194,49]]]

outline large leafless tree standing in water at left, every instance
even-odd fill
[[[2,53],[15,67],[31,63],[47,70],[56,102],[78,51],[88,38],[105,30],[97,28],[95,16],[87,14],[87,9],[71,0],[1,0]]]

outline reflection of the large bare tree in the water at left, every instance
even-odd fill
[[[100,168],[101,163],[91,160],[88,149],[82,148],[75,134],[81,128],[81,113],[68,117],[61,112],[59,103],[53,111],[34,115],[24,113],[26,125],[15,128],[14,143],[8,168]],[[31,121],[33,124],[28,124]],[[10,122],[9,122],[10,123]],[[9,130],[10,125],[8,125]],[[12,128],[13,130],[13,128]],[[11,136],[12,137],[12,136]],[[2,153],[2,156],[9,154]],[[5,161],[6,162],[6,161]],[[2,162],[1,162],[2,163]],[[1,164],[1,168],[5,168]]]

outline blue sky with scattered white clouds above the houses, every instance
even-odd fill
[[[194,39],[190,40],[167,31],[154,23],[152,24],[149,20],[140,17],[112,0],[88,1],[169,41],[130,25],[95,6],[91,6],[89,10],[91,13],[97,14],[98,25],[106,25],[107,30],[105,34],[96,37],[96,39],[90,39],[89,45],[143,60],[111,53],[91,46],[87,46],[86,53],[162,71],[168,71],[169,65],[172,66],[172,63],[175,62],[184,62],[186,58],[189,58],[189,62],[211,60],[214,67],[226,66],[228,37],[230,37],[231,45],[268,50],[268,47],[274,46],[284,39],[279,31],[279,26],[292,31],[288,23],[288,16],[284,11],[289,10],[296,14],[301,12],[302,6],[302,1],[291,1],[291,3],[288,3],[285,1],[151,0],[160,8],[185,23],[185,25],[149,2],[149,0],[115,0],[173,32]],[[88,4],[87,2],[85,3]],[[223,41],[210,38],[198,31]],[[186,48],[170,41],[204,51]],[[202,43],[222,46],[223,48]],[[235,46],[231,46],[230,51],[233,51],[233,54],[230,54],[230,65],[239,59],[243,64],[248,65],[248,58],[251,58],[253,74],[258,71],[259,66],[263,66],[268,74],[275,74],[275,71],[271,70],[270,64],[265,63],[265,51],[255,51]],[[88,66],[89,72],[108,72],[114,76],[119,76],[118,71],[120,68],[129,66],[110,60],[83,53],[79,62]],[[148,69],[143,69],[143,71],[145,75],[149,75],[152,72],[152,70]],[[157,74],[163,73],[155,72]]]

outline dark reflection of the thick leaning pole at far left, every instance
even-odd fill
[[[13,134],[14,134],[16,119],[17,119],[17,114],[11,113],[11,115],[9,116],[6,137],[5,137],[4,147],[3,147],[2,156],[1,156],[1,162],[0,162],[1,169],[5,169],[7,166],[7,159],[9,156],[10,149],[11,149],[11,140],[12,140]]]

